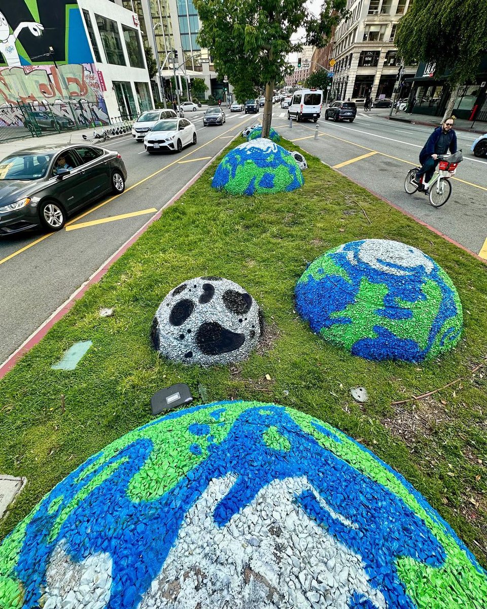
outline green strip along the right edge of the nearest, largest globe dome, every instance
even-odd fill
[[[440,541],[446,553],[442,568],[432,568],[413,558],[398,558],[398,575],[405,590],[418,609],[485,609],[487,607],[487,577],[472,565],[468,555],[443,524],[432,518],[398,477],[388,471],[372,454],[332,426],[309,417],[303,412],[286,408],[303,431],[312,435],[323,448],[333,452],[360,473],[382,484],[424,520]],[[318,423],[337,437],[334,440],[321,433],[312,423]]]

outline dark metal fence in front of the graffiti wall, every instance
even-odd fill
[[[77,129],[125,124],[133,117],[110,119],[96,102],[57,101],[0,105],[0,143]]]

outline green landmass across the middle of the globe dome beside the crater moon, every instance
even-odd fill
[[[360,339],[377,338],[377,333],[374,326],[382,326],[391,333],[395,334],[400,339],[412,339],[418,343],[419,350],[424,350],[427,347],[430,329],[435,321],[438,312],[441,308],[440,286],[436,281],[427,279],[421,286],[421,291],[426,297],[429,306],[414,308],[405,300],[396,299],[396,303],[401,309],[412,311],[412,317],[408,319],[390,319],[377,315],[377,310],[385,309],[384,299],[388,294],[386,284],[371,283],[367,278],[362,278],[360,281],[359,294],[356,296],[356,301],[351,305],[347,305],[342,311],[335,311],[330,314],[332,319],[351,320],[351,323],[335,323],[329,328],[321,328],[320,334],[326,340],[331,340],[334,343],[343,345],[346,350],[351,351],[353,345]],[[421,301],[422,303],[424,301]],[[426,359],[432,359],[441,351],[451,348],[454,343],[458,342],[460,336],[454,342],[447,345],[441,345],[441,336],[443,331],[454,325],[455,328],[461,328],[461,311],[455,317],[447,319],[444,322],[441,331],[433,340],[433,343],[426,354]]]

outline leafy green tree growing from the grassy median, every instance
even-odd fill
[[[211,49],[215,70],[226,74],[236,99],[256,97],[265,86],[262,136],[272,122],[274,83],[293,68],[287,55],[303,44],[324,46],[336,26],[348,14],[346,0],[324,2],[318,16],[306,0],[194,0],[201,20],[201,46]],[[303,39],[291,40],[298,29]]]

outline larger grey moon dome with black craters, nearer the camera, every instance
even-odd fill
[[[183,364],[230,364],[247,359],[263,330],[259,305],[239,284],[196,277],[169,292],[156,311],[156,351]]]

